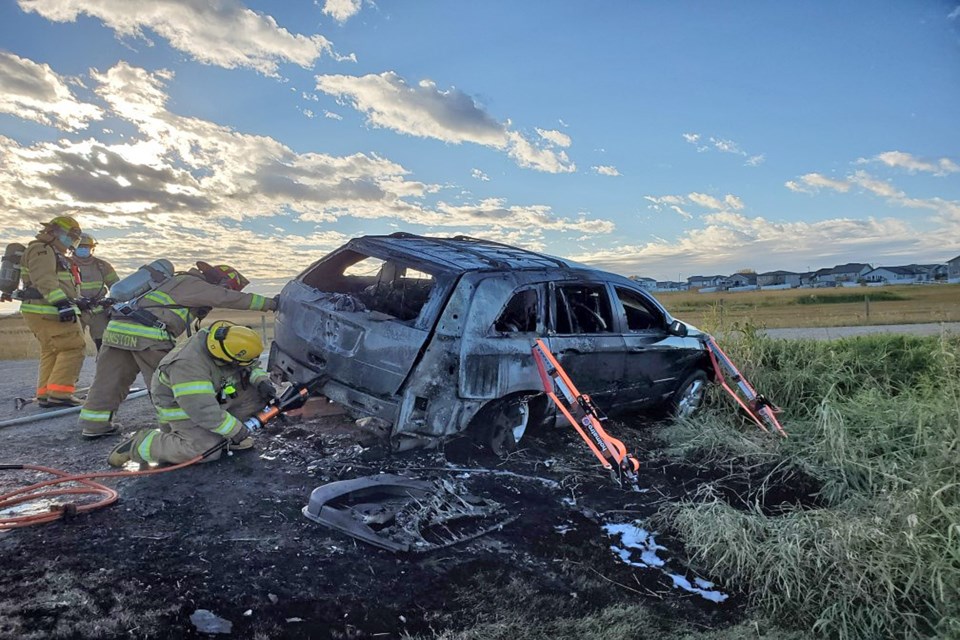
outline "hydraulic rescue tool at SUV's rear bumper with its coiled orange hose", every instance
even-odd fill
[[[285,412],[302,407],[310,397],[310,394],[319,388],[322,382],[323,376],[318,376],[302,385],[293,385],[292,387],[289,387],[279,397],[271,400],[263,408],[263,410],[261,410],[255,416],[248,418],[244,422],[244,425],[251,431],[255,431],[277,417],[282,418]],[[184,467],[189,467],[190,465],[201,462],[228,445],[229,440],[223,440],[222,442],[210,447],[200,455],[194,456],[186,462],[181,462],[180,464],[170,467],[159,467],[140,471],[95,471],[92,473],[70,474],[66,471],[51,469],[50,467],[41,467],[39,465],[0,464],[0,471],[42,471],[44,473],[57,476],[56,478],[52,478],[50,480],[36,482],[29,486],[0,494],[0,512],[26,502],[40,500],[50,502],[52,499],[59,496],[90,494],[100,496],[99,500],[81,504],[76,504],[73,502],[65,504],[51,503],[48,511],[42,511],[40,513],[32,513],[21,516],[0,515],[0,531],[16,529],[17,527],[26,527],[33,524],[53,522],[54,520],[59,520],[64,517],[72,517],[81,513],[93,511],[94,509],[99,509],[100,507],[106,507],[116,502],[119,498],[119,494],[117,493],[116,489],[108,487],[99,482],[95,482],[95,478],[130,478],[134,476],[148,476],[157,473],[166,473],[168,471],[176,471],[177,469],[183,469]],[[66,484],[80,486],[57,486]],[[49,489],[48,487],[54,488]]]

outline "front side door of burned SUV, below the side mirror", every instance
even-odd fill
[[[659,402],[681,382],[692,353],[671,335],[658,305],[643,292],[614,285],[614,308],[624,341],[620,401],[627,406]]]

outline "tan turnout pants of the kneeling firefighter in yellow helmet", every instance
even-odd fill
[[[250,385],[241,390],[236,398],[230,399],[224,409],[242,422],[262,409],[264,404],[256,387]],[[197,426],[190,420],[161,421],[159,429],[137,432],[133,437],[130,457],[137,462],[180,464],[221,442],[223,436]],[[222,450],[216,452],[207,461],[216,460],[221,453]]]

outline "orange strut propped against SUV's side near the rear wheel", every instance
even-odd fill
[[[600,423],[603,417],[590,396],[577,390],[550,349],[539,338],[533,344],[533,359],[537,363],[544,391],[587,443],[603,468],[609,470],[621,485],[626,477],[636,487],[640,462],[627,453],[627,448],[620,440],[604,431]]]

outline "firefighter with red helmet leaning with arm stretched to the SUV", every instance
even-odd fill
[[[113,415],[137,373],[143,374],[149,385],[157,365],[173,350],[176,338],[211,308],[277,308],[275,298],[241,293],[247,284],[247,279],[232,267],[198,262],[196,269],[168,278],[132,307],[115,305],[103,333],[93,386],[80,411],[81,434],[98,438],[119,433]]]

